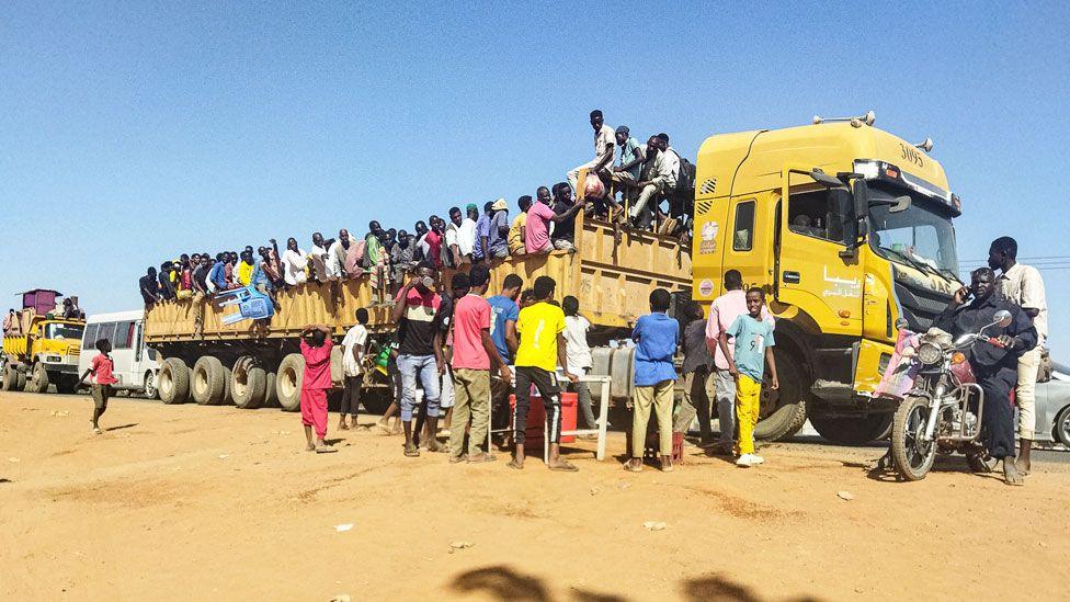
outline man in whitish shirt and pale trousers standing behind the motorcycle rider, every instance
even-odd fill
[[[1018,243],[1009,236],[997,238],[988,251],[988,265],[1000,270],[998,284],[1003,298],[1016,303],[1033,318],[1037,331],[1037,344],[1018,357],[1018,384],[1014,399],[1018,407],[1018,452],[1015,468],[1022,475],[1029,474],[1029,450],[1036,434],[1036,379],[1040,370],[1040,353],[1048,337],[1048,304],[1044,295],[1040,272],[1031,265],[1017,263]]]

